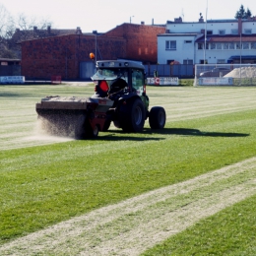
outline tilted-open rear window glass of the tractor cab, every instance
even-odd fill
[[[128,83],[128,70],[127,69],[97,69],[96,74],[92,77],[93,81],[105,80],[113,81],[118,78],[125,80]]]

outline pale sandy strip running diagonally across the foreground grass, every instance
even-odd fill
[[[0,254],[139,255],[256,194],[255,184],[253,158],[18,238]]]

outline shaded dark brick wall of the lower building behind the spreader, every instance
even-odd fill
[[[69,34],[22,42],[22,76],[26,79],[50,80],[60,75],[64,80],[80,79],[80,62],[97,59],[116,59],[126,56],[123,38],[101,35]]]

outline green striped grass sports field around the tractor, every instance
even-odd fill
[[[96,140],[40,134],[34,106],[42,96],[91,96],[93,91],[93,85],[0,86],[0,254],[78,255],[88,249],[82,245],[87,244],[83,235],[72,238],[71,232],[70,242],[66,235],[63,239],[67,240],[47,247],[46,233],[41,247],[32,247],[29,234],[35,236],[54,224],[93,215],[124,200],[194,182],[200,175],[251,160],[250,165],[242,163],[236,172],[216,183],[206,178],[202,187],[195,185],[185,195],[183,190],[181,194],[174,190],[173,201],[152,203],[145,212],[141,209],[122,215],[120,210],[117,219],[96,227],[95,233],[105,230],[101,236],[92,230],[89,247],[98,246],[98,253],[85,255],[103,255],[105,251],[109,251],[107,255],[256,255],[256,89],[148,87],[150,105],[161,105],[166,111],[162,131],[151,130],[147,121],[143,133],[127,134],[110,126]],[[236,194],[232,188],[238,187]],[[237,196],[225,205],[222,195],[227,190]],[[213,195],[216,197],[210,202]],[[222,207],[213,214],[203,208],[196,210],[202,200],[206,208],[209,202],[215,206],[219,201]],[[198,215],[195,221],[189,223],[190,215],[177,218],[176,223],[184,228],[179,230],[177,225],[176,231],[168,233],[174,221],[172,217],[161,220],[163,213],[166,217],[179,215],[190,206]],[[110,217],[115,214],[113,211]],[[104,218],[100,217],[100,222]],[[145,227],[142,233],[156,235],[145,241],[142,235],[140,244],[139,239],[130,244],[131,238],[127,238],[125,242],[125,235],[136,237],[141,230],[138,226]],[[62,234],[58,235],[55,240],[61,240]],[[111,251],[109,247],[114,248],[118,236],[124,236],[122,246]],[[138,249],[129,252],[129,246]]]

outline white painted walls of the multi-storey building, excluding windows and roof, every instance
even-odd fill
[[[204,59],[207,60],[207,62],[210,63],[217,63],[220,60],[224,60],[224,62],[227,62],[227,59],[230,58],[230,56],[233,55],[256,55],[255,49],[224,49],[224,43],[225,42],[238,42],[240,43],[240,40],[242,42],[255,42],[256,41],[256,23],[255,21],[239,21],[239,20],[215,20],[215,21],[208,21],[207,22],[207,31],[212,31],[213,35],[208,36],[208,39],[210,40],[209,43],[212,42],[221,42],[222,43],[222,49],[207,49],[204,51],[203,49],[199,50],[197,49],[197,38],[200,40],[200,42],[204,43],[204,30],[205,30],[205,23],[167,23],[166,29],[169,31],[169,33],[161,34],[158,36],[158,42],[159,42],[159,63],[165,64],[168,59],[175,59],[179,61],[180,63],[183,63],[183,60],[188,58],[192,59],[193,56],[194,64],[198,64],[203,61]],[[240,28],[238,28],[240,26]],[[251,29],[252,34],[242,34],[241,37],[238,34],[234,35],[231,34],[232,30],[238,30],[241,29],[242,32],[244,32],[245,29]],[[201,30],[203,32],[201,32]],[[220,30],[224,30],[225,34],[220,35]],[[194,46],[190,48],[190,50],[185,50],[184,40],[187,38],[187,36],[191,36],[192,33],[198,32],[197,35],[193,38],[193,44]],[[201,39],[200,39],[201,36]],[[177,49],[175,51],[166,51],[165,50],[165,40],[176,40]]]

